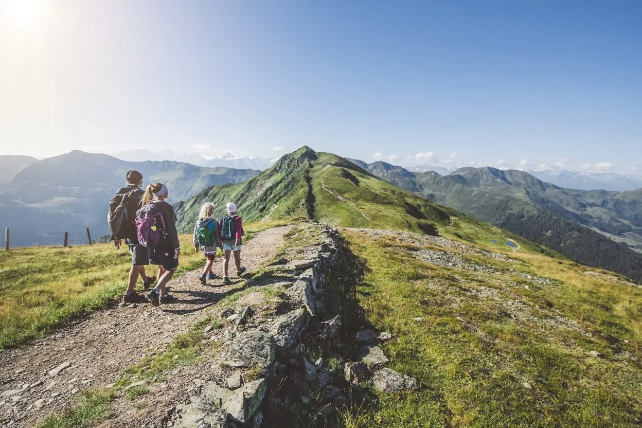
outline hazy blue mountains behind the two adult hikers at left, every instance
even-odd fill
[[[26,165],[17,173],[3,169],[8,180],[0,191],[0,227],[11,230],[12,245],[86,242],[85,227],[99,237],[108,233],[107,203],[125,185],[125,173],[140,171],[144,184],[164,182],[169,202],[186,200],[215,184],[240,183],[260,171],[201,167],[164,160],[126,162],[103,154],[71,151],[43,160],[0,156],[0,165]],[[8,178],[11,176],[10,178]],[[7,178],[4,178],[7,177]]]

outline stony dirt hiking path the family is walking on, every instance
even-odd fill
[[[281,246],[291,227],[259,232],[241,254],[248,271],[259,268]],[[230,261],[230,264],[233,262]],[[230,266],[231,267],[231,266]],[[214,262],[223,271],[223,259]],[[92,386],[116,381],[126,366],[145,352],[169,343],[189,325],[206,316],[208,307],[239,289],[232,284],[198,280],[200,269],[173,279],[170,293],[175,304],[155,308],[117,304],[69,321],[48,336],[0,354],[0,427],[33,427],[56,409],[67,406],[74,394]]]

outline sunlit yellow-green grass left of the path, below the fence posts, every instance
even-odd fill
[[[282,222],[257,222],[254,232]],[[178,272],[204,265],[192,236],[180,235]],[[104,307],[125,291],[131,256],[112,244],[0,252],[0,349],[40,336],[70,316]],[[156,275],[156,266],[148,274]],[[138,287],[142,287],[140,280]]]

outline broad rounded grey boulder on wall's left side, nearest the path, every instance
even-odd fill
[[[232,368],[261,367],[265,371],[275,358],[275,341],[271,334],[250,330],[236,336],[229,347],[216,357],[219,366]]]

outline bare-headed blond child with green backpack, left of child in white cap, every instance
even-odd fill
[[[221,232],[218,228],[218,221],[214,218],[214,205],[206,202],[198,213],[198,220],[194,226],[194,251],[203,253],[207,262],[205,270],[200,276],[200,281],[205,286],[207,279],[216,279],[217,275],[212,270],[214,259],[216,259],[216,250],[223,246],[221,241]]]

